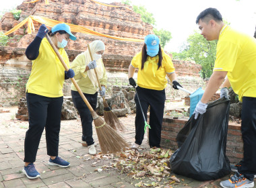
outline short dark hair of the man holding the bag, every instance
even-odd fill
[[[201,13],[199,13],[195,23],[198,23],[199,19],[201,19],[202,21],[205,21],[205,22],[210,21],[210,19],[214,19],[215,21],[223,21],[222,15],[215,8],[207,8],[204,11],[202,11]]]

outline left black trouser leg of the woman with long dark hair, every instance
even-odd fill
[[[136,103],[136,116],[135,116],[135,143],[141,145],[143,138],[144,138],[144,126],[145,126],[145,121],[143,118],[143,114],[141,112],[141,107],[143,110],[143,113],[145,115],[146,121],[148,120],[147,118],[147,112],[148,112],[148,99],[147,99],[147,93],[146,90],[137,87],[136,89],[137,94],[134,97],[134,101]],[[138,97],[139,96],[139,101],[141,103],[141,107],[139,105]]]

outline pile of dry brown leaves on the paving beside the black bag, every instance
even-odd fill
[[[76,157],[84,161],[94,160],[91,166],[96,167],[94,171],[99,173],[117,169],[120,173],[139,180],[139,183],[131,183],[135,187],[172,188],[173,185],[180,184],[180,180],[170,174],[171,154],[170,150],[150,148],[150,150],[126,150],[116,154],[98,153],[94,156],[85,154]]]

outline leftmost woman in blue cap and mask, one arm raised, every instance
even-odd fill
[[[36,38],[26,49],[26,56],[32,60],[32,70],[26,85],[26,99],[29,114],[29,128],[24,143],[24,169],[22,172],[29,178],[40,177],[34,162],[40,138],[45,128],[47,154],[49,165],[69,167],[69,162],[58,156],[59,131],[61,128],[61,107],[63,103],[63,83],[65,79],[73,78],[75,73],[71,68],[65,71],[55,51],[44,38],[48,29],[40,26]],[[69,65],[69,58],[64,48],[69,38],[75,40],[70,28],[65,23],[55,25],[49,32],[53,44],[57,46],[63,60]]]

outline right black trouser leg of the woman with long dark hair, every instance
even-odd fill
[[[150,147],[160,147],[162,120],[164,117],[165,91],[152,90],[150,93]]]

